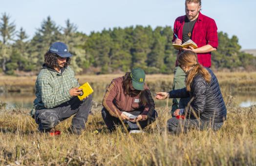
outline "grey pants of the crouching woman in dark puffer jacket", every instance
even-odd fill
[[[212,128],[213,131],[218,130],[223,125],[223,122],[221,123],[214,123],[209,121],[202,121],[197,119],[177,119],[177,118],[171,118],[167,121],[167,128],[168,130],[173,134],[179,134],[183,131],[186,133],[189,129],[208,129]]]

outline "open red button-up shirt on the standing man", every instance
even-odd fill
[[[182,41],[183,26],[186,19],[185,16],[178,17],[174,22],[173,32]],[[176,39],[173,34],[173,40]],[[218,47],[218,33],[215,21],[199,12],[197,21],[194,24],[191,39],[198,47],[210,44],[213,48]],[[198,62],[205,67],[211,67],[211,52],[204,54],[197,54]],[[178,62],[176,61],[176,66]]]

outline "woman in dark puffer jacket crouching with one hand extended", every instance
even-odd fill
[[[227,109],[216,76],[211,69],[198,63],[197,55],[192,51],[179,55],[178,62],[186,73],[186,87],[158,92],[155,98],[164,100],[168,97],[190,97],[190,102],[185,109],[176,109],[176,117],[167,122],[168,130],[171,133],[187,132],[191,128],[218,130],[226,120]]]

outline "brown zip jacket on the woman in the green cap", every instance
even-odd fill
[[[122,113],[121,111],[129,112],[138,108],[144,108],[141,115],[143,118],[142,120],[146,120],[152,115],[155,108],[149,87],[144,85],[144,90],[146,91],[148,100],[148,104],[144,106],[140,102],[140,95],[135,97],[125,95],[123,80],[124,76],[112,80],[104,95],[102,105],[107,109],[110,115],[114,117],[120,116]]]

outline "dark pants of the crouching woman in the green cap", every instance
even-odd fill
[[[142,109],[137,109],[134,111],[129,112],[132,115],[138,116],[143,112]],[[102,111],[102,118],[105,122],[105,124],[107,125],[107,128],[111,131],[115,130],[116,125],[121,125],[121,121],[119,120],[119,118],[113,117],[109,114],[109,112],[107,111],[106,108],[103,107]],[[153,123],[155,121],[155,119],[157,118],[157,112],[154,110],[152,117],[149,117],[147,120],[145,121],[138,121],[139,125],[141,126],[141,128],[145,128],[147,125],[150,125],[151,123]],[[129,125],[128,129],[132,129],[132,130],[139,130],[139,126],[136,124],[136,122],[130,122],[130,121],[124,121],[125,124]]]

